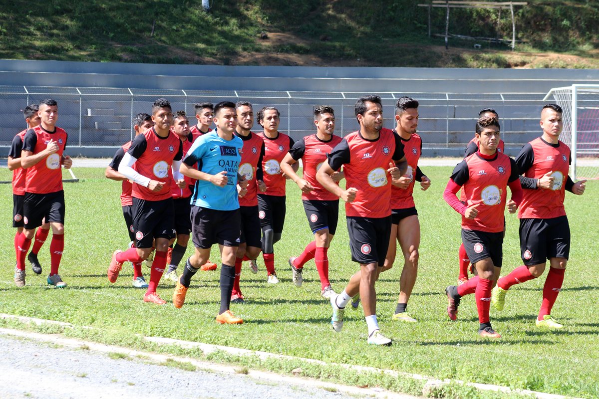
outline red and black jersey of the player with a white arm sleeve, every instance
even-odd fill
[[[154,192],[143,185],[133,183],[132,196],[147,201],[160,201],[171,197],[173,184],[173,161],[183,158],[183,144],[176,134],[168,132],[168,136],[161,137],[156,130],[146,130],[135,137],[127,151],[137,159],[134,169],[142,176],[152,180],[164,182],[162,190]]]

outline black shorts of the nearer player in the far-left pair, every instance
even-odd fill
[[[25,193],[23,200],[23,227],[31,230],[40,227],[43,220],[65,224],[65,191],[55,193]]]

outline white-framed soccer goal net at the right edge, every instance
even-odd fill
[[[570,147],[572,179],[599,179],[599,84],[573,84],[549,90],[544,101],[564,111],[559,139]]]

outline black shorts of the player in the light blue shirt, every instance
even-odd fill
[[[192,240],[196,248],[208,249],[216,243],[223,246],[239,246],[241,227],[239,209],[217,211],[193,205],[191,222]]]

